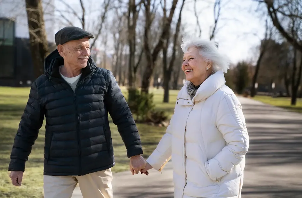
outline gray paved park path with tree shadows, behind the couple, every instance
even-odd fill
[[[250,147],[242,198],[302,198],[302,114],[239,97]],[[114,198],[173,198],[171,163],[162,174],[114,174]],[[77,187],[72,198],[82,198]]]

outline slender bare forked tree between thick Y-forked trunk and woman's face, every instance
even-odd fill
[[[166,1],[165,1],[166,2]],[[166,13],[166,3],[164,3],[164,17],[167,17]],[[164,87],[164,99],[163,102],[169,102],[169,89],[170,89],[170,81],[171,81],[171,74],[173,71],[173,66],[174,66],[174,61],[175,61],[175,55],[176,55],[176,45],[177,45],[177,39],[179,35],[179,30],[180,30],[180,25],[181,25],[181,18],[182,18],[182,9],[184,7],[185,0],[182,0],[182,6],[179,11],[179,16],[175,28],[175,33],[174,33],[174,38],[173,38],[173,43],[172,43],[172,55],[170,58],[170,64],[168,67],[168,61],[167,61],[167,51],[168,51],[168,46],[169,46],[169,38],[170,35],[166,35],[165,37],[165,43],[163,45],[162,51],[163,51],[163,74],[164,74],[164,82],[163,82],[163,87]]]

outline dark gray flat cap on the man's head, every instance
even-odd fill
[[[87,32],[82,28],[75,26],[64,27],[59,30],[55,35],[56,46],[62,45],[68,41],[79,40],[85,37],[88,37],[89,39],[94,38],[92,33]]]

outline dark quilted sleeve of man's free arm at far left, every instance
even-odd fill
[[[14,138],[8,171],[25,171],[25,162],[28,160],[31,148],[37,140],[39,130],[42,127],[44,112],[44,107],[40,104],[37,85],[34,82]]]

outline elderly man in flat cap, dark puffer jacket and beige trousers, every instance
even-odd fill
[[[112,73],[90,56],[93,35],[65,27],[57,49],[45,59],[44,74],[31,86],[11,152],[12,184],[21,185],[25,162],[44,116],[44,197],[70,198],[79,183],[84,198],[112,198],[114,155],[108,112],[127,148],[132,173],[146,166],[140,136]]]

